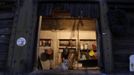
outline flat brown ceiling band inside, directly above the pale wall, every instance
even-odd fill
[[[79,24],[79,25],[78,25]],[[96,22],[91,19],[78,19],[78,18],[43,18],[42,30],[79,30],[82,31],[95,31]]]

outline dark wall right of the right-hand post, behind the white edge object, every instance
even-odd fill
[[[134,54],[134,5],[109,5],[115,72],[129,72],[129,56]],[[128,9],[126,9],[128,8]],[[131,15],[131,16],[129,16]]]

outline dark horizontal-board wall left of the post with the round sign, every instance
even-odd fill
[[[3,4],[6,4],[3,2]],[[3,6],[4,7],[4,6]],[[2,8],[2,6],[1,6]],[[0,9],[0,71],[6,71],[9,50],[9,40],[13,25],[12,7]]]

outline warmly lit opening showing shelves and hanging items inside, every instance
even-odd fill
[[[39,20],[38,69],[99,69],[96,19],[54,10],[51,16],[40,15]]]

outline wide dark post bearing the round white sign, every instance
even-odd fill
[[[8,68],[11,72],[30,72],[33,69],[37,21],[36,0],[17,0],[19,8],[9,44]],[[23,38],[23,39],[22,39]],[[36,57],[35,57],[36,58]]]

